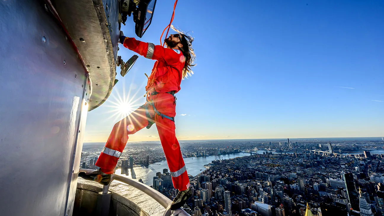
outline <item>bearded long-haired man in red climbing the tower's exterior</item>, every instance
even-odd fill
[[[146,58],[156,60],[146,86],[147,102],[114,125],[95,164],[100,169],[88,173],[80,172],[79,176],[108,185],[127,143],[128,135],[156,123],[174,188],[179,190],[170,209],[180,208],[192,196],[187,170],[175,135],[174,120],[175,93],[180,91],[181,80],[188,74],[192,74],[191,68],[194,66],[195,54],[191,46],[192,41],[193,38],[190,36],[178,33],[164,40],[167,45],[167,48],[164,48],[128,38],[120,32],[120,43],[124,47]]]

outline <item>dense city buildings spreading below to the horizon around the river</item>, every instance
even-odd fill
[[[384,216],[384,141],[214,140],[183,142],[187,157],[214,156],[207,170],[190,176],[193,197],[183,207],[192,216]],[[158,144],[127,145],[123,170],[164,160]],[[221,160],[220,155],[250,156]],[[91,155],[91,154],[89,154]],[[89,157],[88,157],[89,159]],[[84,168],[94,168],[94,159]],[[93,167],[92,167],[93,165]],[[167,169],[153,188],[170,199],[177,190]]]

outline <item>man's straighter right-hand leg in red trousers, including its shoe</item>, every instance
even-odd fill
[[[189,188],[187,169],[181,155],[179,141],[176,139],[175,123],[169,119],[163,119],[159,115],[155,115],[155,122],[167,158],[173,186],[179,190],[170,206],[170,210],[175,210],[181,208],[188,198],[192,196],[192,190]]]

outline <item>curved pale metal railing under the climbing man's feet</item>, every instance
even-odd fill
[[[79,169],[79,172],[93,172],[93,171],[95,170],[81,169],[81,168]],[[126,183],[127,185],[131,185],[132,187],[146,193],[148,196],[156,200],[157,203],[161,204],[165,208],[165,212],[163,216],[171,216],[171,215],[190,216],[187,212],[185,212],[184,209],[181,209],[181,208],[171,211],[169,208],[170,208],[170,204],[172,203],[172,200],[170,200],[168,197],[162,195],[162,193],[151,188],[148,185],[145,185],[139,181],[132,180],[131,178],[127,178],[127,177],[116,175],[116,174],[111,175],[111,182],[113,180],[117,180],[122,183]],[[103,195],[108,193],[110,185],[111,183],[109,183],[109,185],[103,186]]]

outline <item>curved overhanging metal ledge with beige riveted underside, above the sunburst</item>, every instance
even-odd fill
[[[106,101],[114,85],[119,37],[118,0],[108,0],[108,10],[102,0],[51,2],[92,78],[89,110],[93,110]]]

